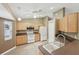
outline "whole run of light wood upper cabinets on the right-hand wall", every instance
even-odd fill
[[[78,13],[66,15],[59,20],[58,30],[63,32],[78,32]]]

